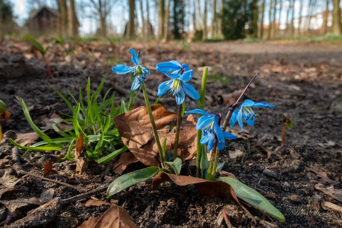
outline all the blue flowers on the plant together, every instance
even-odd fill
[[[133,64],[135,64],[135,66],[128,67],[122,64],[118,64],[116,65],[116,67],[113,67],[112,70],[120,75],[133,73],[134,81],[132,83],[131,90],[136,90],[137,88],[139,88],[139,85],[146,79],[146,76],[150,75],[150,72],[145,67],[142,67],[140,65],[139,57],[135,53],[135,51],[133,49],[129,50],[132,53],[132,62]],[[175,96],[176,103],[178,105],[181,105],[184,102],[185,93],[195,100],[198,100],[200,98],[194,86],[187,83],[192,78],[193,74],[193,70],[190,70],[188,65],[181,65],[179,62],[172,60],[170,62],[157,64],[156,70],[164,73],[167,77],[171,78],[171,80],[163,82],[158,86],[158,97],[168,91],[169,96]],[[247,99],[240,105],[240,108],[238,110],[235,110],[233,112],[231,117],[231,127],[233,127],[236,121],[238,121],[241,130],[243,131],[244,128],[242,126],[242,118],[245,119],[248,125],[254,126],[254,119],[257,115],[255,115],[254,111],[250,107],[260,106],[274,107],[274,105],[269,105],[265,102],[253,102],[252,100]],[[225,138],[237,138],[231,133],[222,131],[222,128],[219,124],[221,118],[220,115],[209,114],[201,109],[186,111],[186,113],[199,113],[203,115],[198,119],[196,129],[202,130],[202,138],[200,143],[208,144],[208,151],[210,151],[213,147],[215,136],[218,138],[217,148],[219,150],[222,150],[224,148]]]

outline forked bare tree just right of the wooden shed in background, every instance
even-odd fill
[[[107,16],[109,15],[111,8],[113,7],[114,0],[88,0],[92,3],[95,12],[100,18],[100,30],[101,36],[107,36]]]

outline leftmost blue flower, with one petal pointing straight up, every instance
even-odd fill
[[[149,76],[150,72],[140,65],[140,59],[138,55],[135,53],[133,49],[129,49],[132,53],[132,62],[135,64],[134,67],[128,67],[122,64],[118,64],[115,67],[111,68],[115,73],[119,75],[124,75],[126,73],[133,73],[133,83],[131,90],[136,90],[139,88],[139,85],[146,79],[146,76]]]

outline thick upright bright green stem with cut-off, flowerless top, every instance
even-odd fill
[[[208,67],[203,68],[202,74],[202,83],[201,83],[201,91],[200,91],[200,99],[198,108],[203,110],[204,108],[204,98],[206,96],[206,85],[207,85],[207,75],[208,75]],[[201,114],[198,114],[198,119],[201,117]],[[202,130],[197,130],[197,151],[196,151],[196,170],[197,170],[197,177],[203,178],[203,171],[201,169],[201,151],[202,151],[202,144],[200,143],[202,138]]]

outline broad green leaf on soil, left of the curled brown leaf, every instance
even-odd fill
[[[147,180],[158,172],[156,166],[146,167],[116,178],[107,188],[107,198],[137,183]]]

